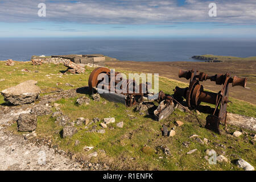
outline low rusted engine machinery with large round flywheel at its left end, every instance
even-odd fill
[[[105,73],[107,75],[107,79],[104,80],[104,78],[98,80],[98,76],[101,73]],[[105,75],[105,76],[106,76]],[[109,68],[99,67],[92,71],[89,77],[89,90],[90,93],[94,93],[97,91],[98,86],[102,83],[102,81],[105,82],[103,84],[102,89],[108,90],[109,93],[111,93],[111,89],[114,88],[114,92],[117,93],[117,90],[122,89],[123,87],[126,88],[127,93],[120,93],[126,96],[125,103],[126,106],[132,106],[135,104],[138,104],[139,102],[143,101],[143,96],[148,94],[148,89],[151,88],[151,84],[146,82],[146,84],[137,84],[135,80],[126,80],[124,83],[125,85],[121,84],[122,77],[117,78],[119,75],[119,72],[114,72],[114,74],[110,71]],[[116,88],[117,85],[121,85],[120,88]],[[102,86],[102,85],[101,85]],[[128,90],[132,90],[132,92],[128,92]]]

